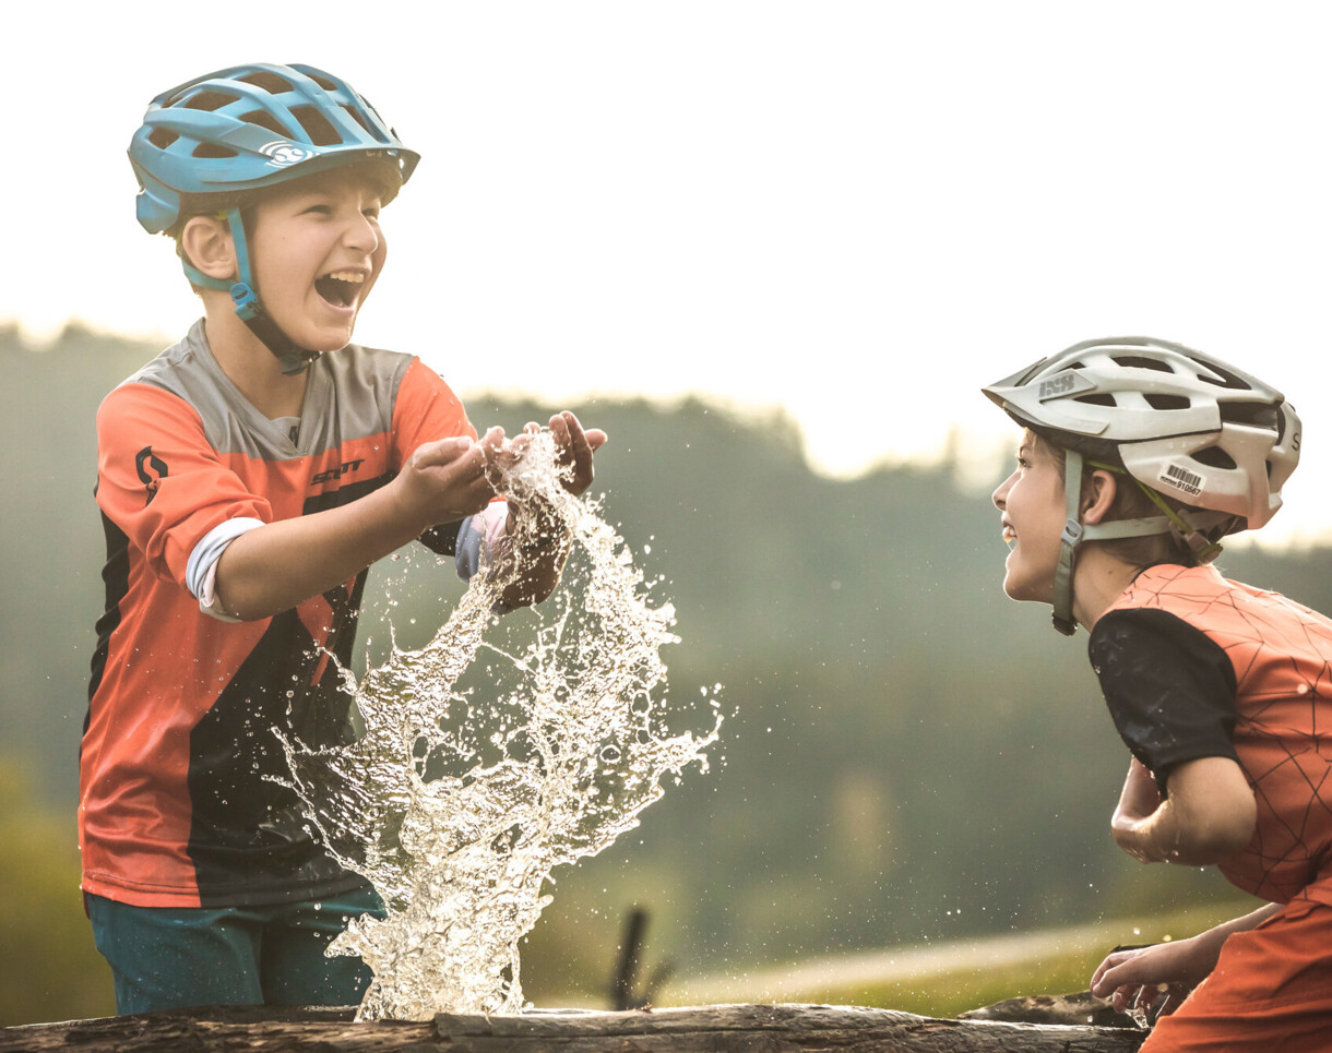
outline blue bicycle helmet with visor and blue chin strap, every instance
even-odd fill
[[[186,209],[225,210],[237,281],[210,278],[188,261],[182,268],[194,285],[230,293],[236,313],[284,373],[300,373],[317,353],[296,347],[254,296],[240,200],[248,190],[376,161],[396,173],[388,201],[420,160],[346,81],[309,65],[238,65],[196,77],[157,96],[129,144],[140,185],[136,212],[151,234],[172,230]]]

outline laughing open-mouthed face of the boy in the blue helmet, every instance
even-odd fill
[[[373,173],[344,168],[278,186],[254,206],[256,293],[297,346],[336,351],[352,341],[384,269],[382,201]]]

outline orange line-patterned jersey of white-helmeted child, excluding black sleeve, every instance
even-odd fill
[[[1144,570],[1107,614],[1127,610],[1179,618],[1220,648],[1233,670],[1231,737],[1257,799],[1257,825],[1248,847],[1223,860],[1220,871],[1273,903],[1303,892],[1332,904],[1332,736],[1325,731],[1332,727],[1332,620],[1280,594],[1227,580],[1215,567],[1175,564]]]

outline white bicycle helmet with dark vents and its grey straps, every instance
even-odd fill
[[[1074,631],[1072,560],[1082,540],[1176,532],[1200,559],[1216,536],[1260,527],[1300,459],[1300,418],[1280,391],[1211,355],[1151,337],[1075,343],[983,389],[1019,425],[1067,451],[1068,523],[1055,626]],[[1083,461],[1123,469],[1164,515],[1083,526]],[[1181,515],[1159,495],[1201,511]]]

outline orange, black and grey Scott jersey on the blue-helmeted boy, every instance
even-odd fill
[[[462,403],[410,355],[356,345],[309,370],[298,427],[262,417],[213,359],[202,322],[112,391],[97,414],[107,610],[97,623],[80,759],[83,888],[141,907],[330,895],[361,879],[322,849],[274,731],[345,741],[365,582],[257,622],[200,611],[186,566],[237,518],[345,505],[421,443],[476,438]],[[456,534],[441,530],[442,547]],[[318,552],[310,552],[318,559]]]

